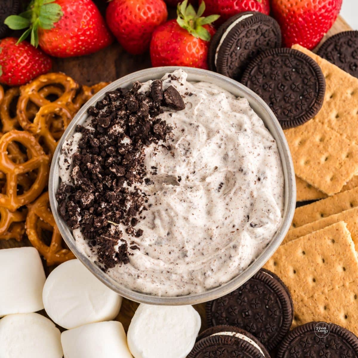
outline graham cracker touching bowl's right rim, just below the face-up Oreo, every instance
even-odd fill
[[[328,195],[358,173],[358,146],[312,119],[285,131],[295,173]]]

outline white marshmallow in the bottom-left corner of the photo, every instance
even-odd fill
[[[0,358],[62,358],[61,333],[38,313],[20,313],[0,320]]]

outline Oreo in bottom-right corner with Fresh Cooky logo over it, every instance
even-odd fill
[[[358,357],[358,338],[333,323],[310,322],[293,329],[282,341],[277,358]]]

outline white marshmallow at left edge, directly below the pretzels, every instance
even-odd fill
[[[0,317],[44,308],[42,289],[46,276],[34,247],[0,250],[0,272]]]

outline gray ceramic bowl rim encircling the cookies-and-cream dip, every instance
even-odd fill
[[[279,148],[282,167],[284,170],[285,176],[285,205],[284,205],[284,219],[282,221],[281,227],[276,232],[274,238],[269,243],[269,245],[261,252],[261,254],[256,258],[255,261],[251,263],[246,270],[241,272],[238,276],[234,277],[231,281],[218,286],[216,288],[210,289],[203,293],[195,293],[186,296],[179,297],[161,297],[153,296],[148,294],[143,294],[140,292],[133,291],[127,287],[119,284],[113,280],[110,276],[101,271],[92,261],[90,261],[85,255],[79,252],[76,248],[76,242],[72,235],[71,229],[63,221],[63,219],[58,215],[58,203],[55,198],[55,193],[59,187],[59,155],[63,142],[72,136],[75,131],[77,124],[82,124],[87,117],[87,108],[94,105],[97,101],[101,100],[107,91],[112,91],[118,87],[130,87],[134,81],[145,82],[149,79],[160,79],[164,76],[165,73],[173,72],[179,67],[157,67],[144,69],[138,71],[128,76],[117,79],[117,81],[112,82],[107,87],[103,88],[95,96],[93,96],[82,108],[79,110],[77,115],[73,118],[70,125],[67,127],[64,132],[57,149],[54,153],[51,170],[50,170],[50,179],[49,179],[49,196],[50,196],[50,205],[55,218],[55,221],[58,225],[59,231],[61,232],[65,242],[68,247],[73,251],[73,253],[82,261],[82,263],[92,272],[98,279],[100,279],[104,284],[110,287],[113,291],[117,292],[121,296],[124,296],[133,301],[147,303],[147,304],[156,304],[156,305],[188,305],[188,304],[197,304],[213,300],[217,297],[228,294],[229,292],[235,290],[237,287],[245,283],[250,277],[252,277],[258,270],[265,265],[266,261],[272,256],[276,249],[280,246],[282,240],[287,233],[292,217],[294,214],[295,203],[296,203],[296,183],[295,183],[295,174],[292,164],[291,154],[289,147],[287,145],[284,132],[281,129],[279,122],[277,121],[274,113],[270,110],[269,106],[261,100],[255,93],[250,89],[243,86],[242,84],[234,81],[231,78],[222,76],[218,73],[211,71],[206,71],[203,69],[196,68],[183,68],[185,72],[188,73],[188,80],[192,82],[211,82],[215,83],[218,86],[226,89],[227,91],[233,93],[235,96],[246,97],[250,102],[253,110],[262,118],[265,126],[274,136],[277,146]]]

